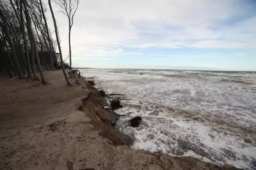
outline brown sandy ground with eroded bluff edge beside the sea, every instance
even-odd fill
[[[72,77],[70,87],[61,70],[44,75],[47,85],[0,80],[1,170],[236,169],[192,157],[131,150],[110,125],[99,93],[87,81]],[[82,111],[77,110],[80,105]]]

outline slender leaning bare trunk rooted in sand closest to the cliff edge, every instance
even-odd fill
[[[60,52],[61,68],[62,68],[63,74],[65,76],[65,79],[68,83],[68,86],[72,86],[72,84],[68,81],[68,77],[67,77],[67,74],[66,74],[66,71],[65,71],[65,68],[64,68],[64,64],[63,64],[62,52],[61,52],[61,48],[60,48],[60,40],[59,40],[59,37],[58,37],[58,30],[57,30],[57,25],[56,25],[56,20],[55,20],[55,17],[54,17],[54,13],[53,13],[53,10],[52,10],[51,0],[48,0],[48,4],[50,6],[50,10],[51,10],[51,13],[52,13],[52,19],[53,19],[54,28],[55,28],[55,35],[56,35],[58,48],[59,48],[59,52]]]

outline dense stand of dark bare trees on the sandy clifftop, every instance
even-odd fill
[[[71,69],[70,33],[79,0],[54,0],[68,18],[69,59],[64,63],[60,37],[51,0],[0,0],[0,72],[10,78],[18,76],[47,84],[44,71],[62,69],[69,86],[66,69]],[[52,18],[46,18],[50,9]],[[54,31],[48,27],[54,23]],[[37,73],[40,73],[40,78]]]

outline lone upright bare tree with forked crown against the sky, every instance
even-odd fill
[[[71,45],[70,45],[70,33],[74,23],[74,15],[78,8],[80,0],[55,0],[55,3],[60,6],[60,12],[68,17],[68,43],[69,43],[69,61],[71,69]]]

